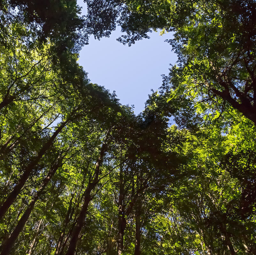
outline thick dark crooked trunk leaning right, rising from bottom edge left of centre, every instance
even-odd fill
[[[75,253],[75,248],[76,248],[76,245],[77,245],[78,237],[79,237],[79,234],[80,234],[81,229],[83,227],[84,220],[85,220],[85,215],[87,213],[89,202],[91,200],[91,191],[94,189],[94,187],[98,183],[99,173],[100,173],[100,165],[102,164],[103,157],[104,157],[104,154],[106,152],[106,149],[107,149],[107,145],[105,143],[103,143],[103,145],[101,147],[101,151],[100,151],[100,156],[99,156],[99,158],[96,162],[96,166],[95,166],[95,174],[94,174],[95,177],[94,177],[93,181],[91,183],[89,183],[89,185],[87,186],[87,188],[85,190],[83,205],[82,205],[80,214],[78,216],[77,223],[74,227],[74,231],[72,233],[66,255],[74,255],[74,253]]]

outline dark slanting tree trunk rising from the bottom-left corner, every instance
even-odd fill
[[[26,211],[24,212],[24,214],[21,216],[15,229],[12,231],[10,237],[4,242],[3,247],[2,247],[2,252],[0,255],[8,255],[10,253],[13,245],[15,244],[17,237],[19,236],[19,233],[24,228],[24,226],[27,222],[27,219],[35,206],[35,202],[38,200],[38,198],[42,194],[44,188],[46,187],[46,185],[48,184],[48,182],[50,181],[50,179],[54,175],[54,173],[57,171],[59,166],[60,166],[59,162],[55,163],[52,166],[51,170],[46,175],[46,177],[44,178],[40,188],[38,189],[37,193],[33,197],[32,201],[30,202],[30,204],[29,204],[28,208],[26,209]]]

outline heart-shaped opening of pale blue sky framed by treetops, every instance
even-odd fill
[[[82,6],[82,1],[78,1]],[[88,72],[92,83],[116,91],[123,105],[134,105],[136,114],[144,110],[145,101],[151,89],[157,90],[162,84],[161,74],[168,74],[169,64],[177,57],[171,46],[164,42],[171,39],[167,33],[149,33],[150,39],[137,41],[131,47],[116,39],[121,35],[120,28],[112,32],[109,38],[89,39],[79,58],[79,64]]]

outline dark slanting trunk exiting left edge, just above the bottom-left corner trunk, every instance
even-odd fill
[[[21,175],[18,183],[15,185],[9,196],[6,198],[2,206],[0,207],[0,220],[4,217],[4,214],[7,212],[7,210],[10,208],[14,200],[19,195],[19,192],[21,191],[22,187],[25,185],[25,182],[27,181],[30,173],[35,168],[36,164],[39,162],[39,160],[43,157],[45,152],[50,149],[52,146],[55,138],[57,135],[62,131],[62,129],[66,126],[66,124],[69,121],[66,120],[62,122],[62,124],[57,128],[57,130],[53,133],[53,135],[50,137],[50,139],[43,145],[42,149],[38,152],[35,159],[28,164],[28,166],[25,168],[23,174]]]

